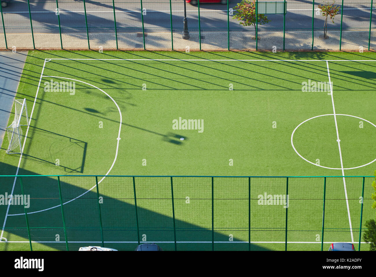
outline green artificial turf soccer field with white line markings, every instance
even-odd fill
[[[0,250],[29,237],[133,250],[144,235],[165,250],[285,250],[286,236],[321,250],[323,228],[324,250],[358,249],[363,180],[362,222],[374,217],[375,85],[374,53],[30,51],[16,96],[30,126],[22,155],[4,140],[0,175],[55,176],[23,177],[23,193],[0,176],[4,194],[30,194],[30,233],[22,205],[0,205]],[[172,202],[170,176],[206,177],[173,177]],[[337,177],[290,177],[287,191],[272,176]],[[264,194],[288,194],[288,216]]]

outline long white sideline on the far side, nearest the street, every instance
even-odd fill
[[[206,59],[91,59],[91,58],[50,58],[49,60],[88,60],[88,61],[376,61],[376,60],[206,60]]]

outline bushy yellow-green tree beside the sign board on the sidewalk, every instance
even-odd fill
[[[243,26],[254,26],[255,27],[255,37],[256,37],[256,0],[241,0],[240,3],[234,7],[235,15],[233,19],[237,19],[240,25]],[[270,22],[265,14],[258,14],[258,23],[265,24]]]

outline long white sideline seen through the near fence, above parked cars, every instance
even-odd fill
[[[5,241],[3,241],[5,242]],[[6,241],[8,243],[30,243],[29,240],[25,240],[25,241]],[[62,241],[59,241],[59,242],[56,242],[55,240],[54,241],[34,241],[32,240],[31,241],[32,243],[65,243],[65,240],[62,240]],[[102,241],[97,241],[97,242],[88,242],[88,241],[68,241],[68,243],[102,243]],[[104,243],[138,243],[138,241],[124,241],[124,242],[104,242]],[[161,242],[156,242],[156,241],[152,241],[152,242],[143,242],[143,243],[174,243],[174,241],[161,241]],[[212,241],[199,241],[199,242],[191,242],[191,241],[180,241],[180,242],[176,242],[176,243],[212,243]],[[220,242],[220,241],[217,241],[217,242],[214,242],[214,243],[249,243],[249,242],[246,242],[246,241],[236,241],[236,242],[229,242],[229,241],[223,241],[223,242]],[[251,243],[286,243],[286,242],[251,242]],[[287,243],[321,243],[321,242],[287,242]],[[329,244],[332,244],[332,243],[354,243],[354,242],[323,242],[323,243],[329,243]],[[358,242],[355,242],[355,243],[358,243]],[[361,242],[361,243],[366,243],[366,242]]]

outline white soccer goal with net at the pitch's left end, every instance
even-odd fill
[[[22,153],[22,128],[29,126],[29,116],[27,115],[26,99],[13,100],[14,102],[14,119],[12,124],[6,127],[8,134],[9,146],[7,154]]]

